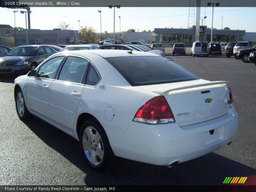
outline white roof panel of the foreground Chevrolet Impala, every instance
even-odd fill
[[[85,54],[96,54],[103,58],[110,57],[130,57],[130,56],[154,56],[160,57],[155,53],[149,52],[140,52],[140,51],[132,51],[132,53],[128,53],[128,50],[109,50],[109,49],[99,49],[99,50],[79,50],[79,51],[67,51],[67,52],[59,52],[54,55],[77,55],[77,56],[85,56]]]

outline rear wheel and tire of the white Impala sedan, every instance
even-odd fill
[[[90,132],[89,136],[86,132]],[[93,136],[93,134],[96,137]],[[100,140],[94,140],[95,138],[100,138]],[[88,121],[85,121],[84,124],[81,126],[79,133],[79,142],[85,161],[92,169],[96,171],[102,171],[107,167],[111,167],[115,163],[116,156],[114,155],[112,148],[109,144],[107,134],[104,131],[103,127],[95,120],[89,119]],[[89,150],[86,150],[84,148],[89,148]],[[92,156],[92,153],[103,155],[102,158],[100,158],[100,156],[97,154],[95,156]],[[91,162],[93,161],[93,159],[91,160],[91,157],[94,157],[95,163]]]

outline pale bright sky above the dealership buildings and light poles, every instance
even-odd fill
[[[16,27],[26,28],[25,16],[16,12]],[[65,21],[78,30],[80,20],[81,26],[90,26],[100,33],[100,13],[102,33],[114,31],[114,9],[108,7],[31,7],[32,13],[31,28],[41,30],[52,30],[58,28],[61,21]],[[192,9],[195,13],[196,7]],[[14,9],[0,7],[0,24],[14,27]],[[254,25],[254,14],[256,7],[214,7],[213,28],[221,29],[229,27],[234,30],[246,30],[246,32],[256,32]],[[127,31],[135,29],[139,32],[154,28],[188,28],[189,7],[121,7],[115,9],[115,31]],[[193,15],[193,14],[192,14]],[[212,7],[201,7],[201,18],[203,24],[208,28],[212,26]],[[121,19],[119,20],[119,17]],[[191,19],[191,17],[190,17]],[[222,20],[223,19],[223,20]],[[196,21],[195,21],[196,22]],[[204,23],[205,22],[205,23]],[[191,23],[191,22],[190,22]],[[190,24],[191,25],[191,24]],[[202,20],[200,20],[202,25]]]

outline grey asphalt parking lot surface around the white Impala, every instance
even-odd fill
[[[230,82],[239,114],[238,133],[230,145],[174,170],[119,158],[112,170],[95,172],[86,165],[78,141],[37,117],[19,120],[15,77],[1,76],[0,185],[221,185],[225,177],[248,177],[246,184],[256,185],[255,64],[224,54],[192,57],[189,48],[186,56],[172,56],[171,50],[166,48],[166,57],[196,76]]]

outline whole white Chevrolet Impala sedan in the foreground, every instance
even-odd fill
[[[33,114],[79,140],[95,170],[115,156],[182,163],[231,143],[238,129],[228,82],[148,52],[59,52],[16,78],[14,95],[21,120]]]

